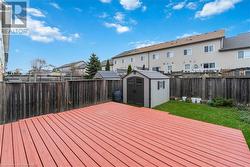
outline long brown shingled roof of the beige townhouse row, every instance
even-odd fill
[[[205,34],[189,36],[189,37],[177,39],[174,41],[164,42],[164,43],[160,43],[160,44],[156,44],[156,45],[151,45],[148,47],[143,47],[143,48],[125,51],[125,52],[113,57],[113,59],[119,58],[119,57],[131,56],[131,55],[135,55],[135,54],[139,54],[139,53],[147,53],[147,52],[151,52],[151,51],[173,48],[173,47],[177,47],[177,46],[183,46],[183,45],[188,45],[188,44],[193,44],[193,43],[198,43],[198,42],[203,42],[203,41],[220,39],[220,38],[224,38],[224,36],[225,36],[224,30],[218,30],[218,31],[209,32],[209,33],[205,33]]]

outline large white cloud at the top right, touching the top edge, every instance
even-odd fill
[[[242,0],[215,0],[206,3],[201,11],[196,12],[195,18],[207,18],[213,15],[221,14],[235,7],[235,4]]]

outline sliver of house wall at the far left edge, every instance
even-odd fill
[[[6,70],[9,54],[9,27],[4,24],[4,18],[11,17],[11,8],[0,1],[0,82]]]

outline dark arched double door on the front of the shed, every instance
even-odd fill
[[[144,79],[131,77],[127,79],[127,102],[144,106]]]

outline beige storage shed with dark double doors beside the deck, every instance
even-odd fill
[[[153,108],[169,101],[169,77],[157,72],[134,70],[123,78],[123,102]]]

